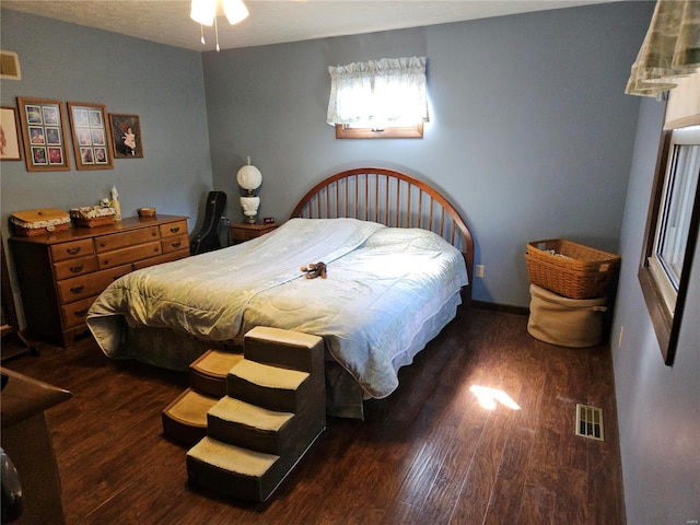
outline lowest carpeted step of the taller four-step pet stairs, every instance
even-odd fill
[[[280,457],[205,438],[187,452],[187,476],[209,489],[265,501],[284,479]]]

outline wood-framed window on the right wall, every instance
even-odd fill
[[[665,131],[639,279],[664,362],[673,364],[700,221],[700,126]]]

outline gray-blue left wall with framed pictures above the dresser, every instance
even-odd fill
[[[14,211],[69,210],[119,191],[121,213],[144,206],[166,214],[199,215],[211,189],[211,162],[201,55],[114,33],[2,10],[3,50],[18,52],[22,80],[2,80],[3,106],[16,97],[103,104],[138,115],[143,159],[115,159],[114,170],[27,172],[3,161],[2,232]],[[67,128],[70,135],[70,127]]]

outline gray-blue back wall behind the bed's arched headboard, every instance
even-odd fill
[[[527,306],[528,241],[619,248],[639,112],[623,91],[652,10],[623,2],[206,52],[214,186],[237,196],[250,155],[260,214],[283,220],[342,168],[408,172],[472,228],[486,267],[475,299]],[[424,138],[336,140],[328,66],[411,55],[428,57]]]

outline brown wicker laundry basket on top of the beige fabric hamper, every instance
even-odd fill
[[[525,254],[533,284],[569,299],[605,295],[620,268],[620,257],[560,238],[533,241]]]

